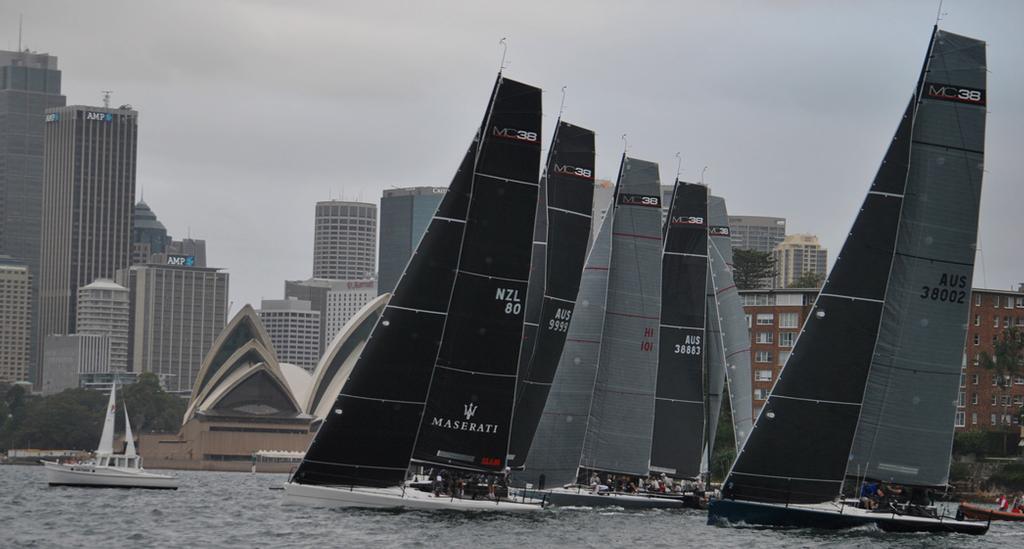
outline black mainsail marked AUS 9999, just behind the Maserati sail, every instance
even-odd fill
[[[590,243],[594,132],[561,120],[541,177],[509,466],[522,467],[565,344]]]

